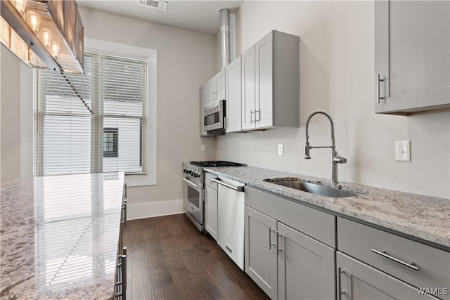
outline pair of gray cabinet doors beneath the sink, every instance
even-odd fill
[[[245,272],[271,299],[334,299],[335,250],[245,207]]]

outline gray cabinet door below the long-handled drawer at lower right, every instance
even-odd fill
[[[338,299],[436,299],[371,266],[337,252]],[[340,273],[339,273],[340,271]]]

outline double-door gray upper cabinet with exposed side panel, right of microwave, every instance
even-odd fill
[[[300,126],[300,38],[272,31],[242,54],[242,129]]]

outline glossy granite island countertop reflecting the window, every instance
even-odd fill
[[[2,183],[1,299],[112,299],[123,173]]]

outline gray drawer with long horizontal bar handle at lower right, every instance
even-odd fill
[[[338,250],[415,287],[449,289],[449,252],[340,217]]]

